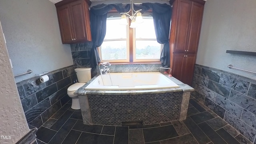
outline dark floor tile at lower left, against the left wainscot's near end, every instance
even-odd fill
[[[48,143],[55,134],[56,131],[41,126],[36,132],[36,138],[45,143]]]

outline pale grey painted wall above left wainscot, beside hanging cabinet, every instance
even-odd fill
[[[0,0],[0,20],[16,82],[73,65],[70,44],[62,44],[57,12],[48,0]]]

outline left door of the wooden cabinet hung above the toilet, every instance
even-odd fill
[[[57,8],[58,20],[60,25],[60,34],[63,44],[72,42],[72,21],[70,19],[70,12],[68,4]]]

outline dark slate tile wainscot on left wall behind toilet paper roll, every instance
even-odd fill
[[[47,75],[45,83],[39,81],[39,76],[16,83],[26,120],[36,128],[71,100],[67,88],[77,80],[73,65]]]

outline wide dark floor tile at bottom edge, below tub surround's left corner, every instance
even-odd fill
[[[76,144],[113,144],[113,139],[114,136],[82,132]]]

